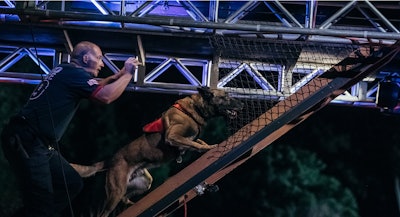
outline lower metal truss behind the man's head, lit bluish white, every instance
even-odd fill
[[[57,54],[53,49],[38,49],[38,48],[21,48],[21,47],[7,47],[2,50],[3,53],[7,52],[8,55],[0,61],[0,82],[8,83],[22,83],[22,84],[38,84],[43,77],[50,73],[50,69],[53,67],[52,63],[60,63],[58,58],[62,54]],[[10,72],[7,71],[17,64],[22,58],[29,58],[33,64],[37,65],[38,73],[30,72]],[[105,53],[104,63],[109,71],[116,73],[119,70],[118,64],[126,60],[129,57],[127,54],[118,53]],[[42,58],[51,58],[51,61],[42,60]],[[50,62],[51,64],[49,64]],[[172,94],[192,93],[198,86],[210,86],[211,79],[211,61],[203,59],[192,59],[192,58],[178,58],[171,56],[160,56],[160,55],[147,55],[146,65],[154,65],[153,68],[142,78],[139,77],[139,73],[136,72],[134,82],[131,83],[127,90],[129,91],[146,91],[146,92],[170,92]],[[308,81],[314,77],[320,75],[325,70],[329,69],[329,66],[320,66],[315,68],[315,65],[299,64],[299,67],[295,67],[292,72],[304,74],[304,77],[294,84],[288,84],[286,82],[282,65],[261,65],[257,62],[239,62],[232,63],[231,60],[220,60],[219,67],[229,69],[230,72],[215,81],[218,88],[225,88],[226,85],[241,73],[247,73],[253,78],[253,82],[257,83],[260,89],[243,89],[243,88],[229,88],[237,96],[243,95],[259,95],[266,99],[281,100],[285,97],[295,93]],[[266,77],[259,70],[270,70],[277,73],[279,89],[275,88]],[[177,75],[171,76],[171,73],[177,73],[184,79],[179,81],[173,80],[168,81],[163,79],[164,74],[168,74],[169,78],[178,78]],[[140,80],[139,80],[140,79]],[[179,83],[178,83],[179,82]],[[366,82],[366,81],[365,81]],[[140,85],[138,85],[140,84]],[[351,90],[346,91],[342,96],[339,96],[337,100],[341,100],[342,103],[352,102],[355,103],[363,98],[363,101],[370,101],[373,103],[374,95],[377,91],[377,84],[372,86],[370,90],[366,88],[368,85],[361,86],[359,83],[354,86]],[[361,89],[364,88],[364,89]],[[358,97],[354,97],[354,94]],[[364,95],[360,95],[364,93]]]

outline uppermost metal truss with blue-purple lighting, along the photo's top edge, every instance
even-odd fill
[[[3,2],[3,5],[0,5],[1,16],[6,22],[21,21],[20,15],[25,14],[42,15],[50,19],[68,18],[59,20],[58,25],[63,26],[95,24],[97,27],[154,32],[164,32],[166,29],[178,33],[204,33],[216,30],[217,33],[225,35],[260,33],[258,36],[264,37],[275,32],[359,37],[360,40],[399,38],[395,34],[399,33],[396,28],[399,21],[394,16],[399,6],[390,1],[372,3],[368,0],[343,2],[5,0]],[[152,27],[149,28],[148,25]],[[341,31],[328,31],[335,29]],[[287,37],[290,39],[296,35]],[[343,41],[351,40],[354,39]]]

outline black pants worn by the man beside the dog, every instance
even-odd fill
[[[82,190],[82,178],[22,120],[12,119],[1,138],[22,190],[24,207],[18,217],[58,216]]]

